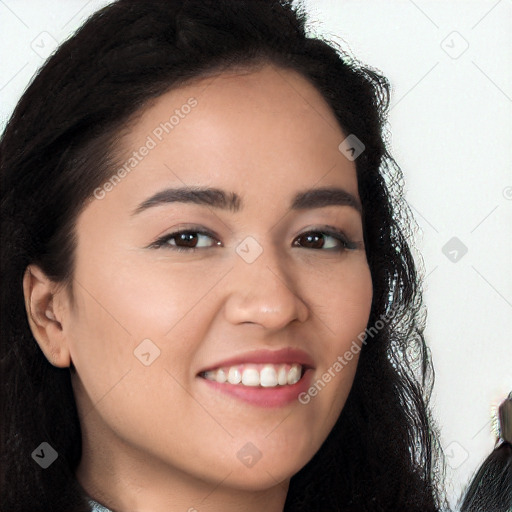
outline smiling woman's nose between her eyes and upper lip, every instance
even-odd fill
[[[275,249],[265,248],[252,263],[237,255],[227,285],[226,319],[233,325],[251,323],[275,331],[294,321],[305,322],[310,313],[299,284]]]

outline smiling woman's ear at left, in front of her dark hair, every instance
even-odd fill
[[[23,276],[23,294],[28,322],[46,359],[67,368],[71,358],[63,329],[64,291],[36,265],[29,265]]]

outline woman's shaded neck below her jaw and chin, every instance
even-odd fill
[[[240,489],[230,485],[235,469],[219,475],[217,481],[200,480],[161,461],[146,463],[140,455],[119,450],[109,453],[102,449],[98,454],[87,444],[84,440],[76,476],[88,496],[108,507],[106,512],[282,512],[284,509],[289,479],[279,483],[268,475],[269,483],[263,490]]]

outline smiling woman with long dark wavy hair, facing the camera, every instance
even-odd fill
[[[2,510],[443,506],[388,102],[289,2],[59,48],[1,141]]]

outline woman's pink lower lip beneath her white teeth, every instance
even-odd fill
[[[226,393],[244,402],[250,404],[274,408],[283,407],[292,402],[298,401],[298,396],[309,388],[312,369],[307,369],[302,378],[295,384],[287,386],[276,386],[274,388],[262,388],[259,386],[244,386],[242,384],[229,384],[228,382],[220,383],[213,380],[198,377],[206,383],[206,385],[215,391]]]

